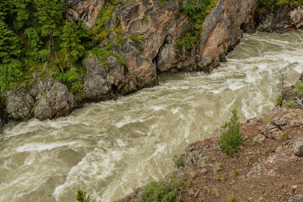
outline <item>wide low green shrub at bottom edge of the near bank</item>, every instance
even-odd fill
[[[182,182],[183,180],[181,179],[150,182],[143,188],[143,191],[139,193],[135,202],[179,202],[182,199],[178,193],[182,189]]]

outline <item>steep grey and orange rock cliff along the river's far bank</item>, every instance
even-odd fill
[[[261,15],[255,12],[257,0],[213,0],[206,15],[193,20],[184,11],[193,2],[66,0],[67,19],[83,19],[98,36],[96,48],[82,61],[83,88],[71,94],[64,84],[37,72],[28,89],[5,92],[2,106],[9,119],[67,116],[85,102],[155,86],[160,73],[209,73],[226,62],[226,54],[240,41],[241,29],[283,33],[302,25],[299,5],[284,5]],[[193,37],[192,32],[198,34]]]

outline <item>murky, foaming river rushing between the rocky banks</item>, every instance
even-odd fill
[[[173,171],[173,154],[209,137],[237,108],[269,112],[279,72],[303,70],[303,32],[244,34],[210,75],[175,73],[117,101],[88,104],[66,118],[11,122],[0,133],[0,201],[75,201],[77,189],[102,202]]]

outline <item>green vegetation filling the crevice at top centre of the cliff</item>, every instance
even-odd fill
[[[176,42],[177,48],[180,49],[185,44],[189,51],[192,47],[199,46],[200,34],[204,31],[203,21],[216,5],[217,0],[189,0],[186,5],[184,1],[179,3],[180,15],[187,15],[189,24],[187,33]]]

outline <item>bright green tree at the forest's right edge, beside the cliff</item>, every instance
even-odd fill
[[[81,45],[81,38],[88,37],[88,35],[81,20],[78,21],[78,24],[66,21],[60,39],[62,51],[66,54],[66,60],[70,65],[83,56],[85,48]]]

